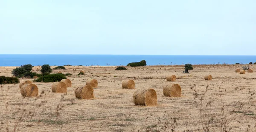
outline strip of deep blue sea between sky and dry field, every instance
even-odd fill
[[[0,66],[38,65],[99,65],[119,66],[145,60],[147,65],[248,64],[256,56],[195,56],[195,55],[64,55],[64,54],[0,54]]]

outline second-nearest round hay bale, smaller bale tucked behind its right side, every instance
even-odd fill
[[[94,98],[93,87],[85,85],[84,87],[77,87],[75,90],[76,98],[78,99],[91,99]]]

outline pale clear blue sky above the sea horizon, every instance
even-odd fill
[[[256,55],[256,0],[0,0],[0,49]]]

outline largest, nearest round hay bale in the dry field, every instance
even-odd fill
[[[157,93],[154,89],[138,89],[134,92],[133,101],[135,105],[157,105]]]

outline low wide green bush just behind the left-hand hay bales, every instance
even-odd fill
[[[62,73],[49,74],[45,76],[41,76],[38,79],[35,79],[35,82],[55,82],[61,81],[62,79],[67,79],[66,76]]]

